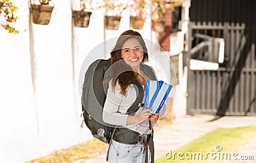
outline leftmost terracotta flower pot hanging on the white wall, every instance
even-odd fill
[[[54,6],[49,4],[32,4],[33,23],[48,25],[51,20],[52,10]]]

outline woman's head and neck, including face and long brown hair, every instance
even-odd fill
[[[116,79],[113,80],[113,86],[119,82],[123,96],[126,94],[127,87],[135,83],[138,74],[147,74],[140,68],[141,64],[144,65],[143,63],[147,61],[147,46],[140,33],[129,30],[121,34],[111,52],[111,65],[118,65],[112,72],[112,77]],[[150,79],[148,75],[144,75],[143,78]]]

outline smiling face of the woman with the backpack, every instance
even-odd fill
[[[121,56],[125,63],[133,68],[140,65],[143,60],[143,47],[135,38],[128,39],[122,46]]]

